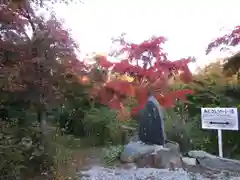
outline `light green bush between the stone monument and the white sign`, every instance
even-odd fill
[[[215,144],[210,140],[212,132],[201,128],[200,112],[191,117],[183,104],[166,111],[165,131],[167,139],[178,142],[183,153],[191,149],[215,152]]]

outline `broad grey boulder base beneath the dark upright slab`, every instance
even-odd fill
[[[120,160],[123,163],[134,162],[138,167],[159,169],[183,167],[179,145],[175,142],[167,142],[165,147],[147,145],[141,141],[130,142],[124,146]]]

